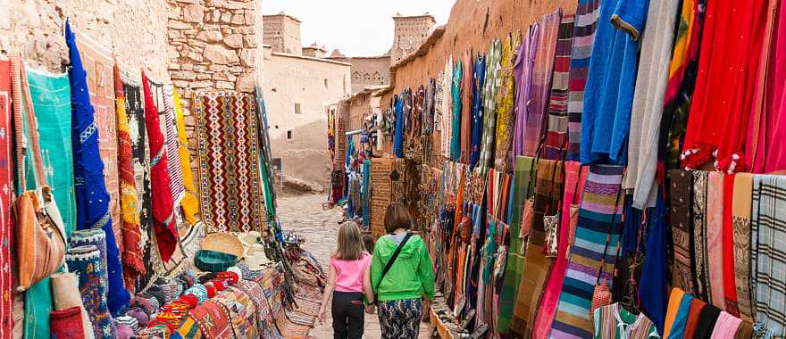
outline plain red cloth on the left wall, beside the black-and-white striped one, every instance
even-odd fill
[[[142,87],[145,91],[145,126],[147,141],[150,145],[150,186],[153,189],[153,220],[155,224],[155,241],[163,262],[169,261],[178,242],[175,220],[172,215],[171,183],[167,167],[166,150],[163,148],[161,122],[158,120],[158,108],[150,93],[150,84],[145,72],[142,72]],[[156,162],[156,159],[157,162]]]

